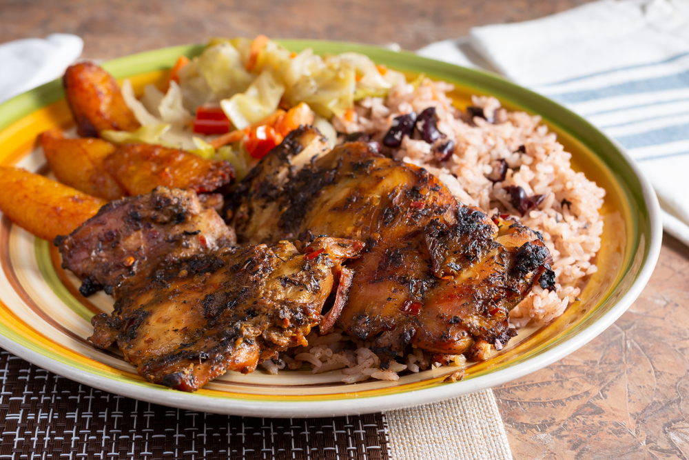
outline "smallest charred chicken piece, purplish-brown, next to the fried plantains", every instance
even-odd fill
[[[81,294],[104,288],[119,299],[158,264],[201,257],[235,240],[232,228],[216,210],[204,208],[194,191],[158,187],[107,203],[69,236],[57,237],[55,246],[63,268],[81,278]]]

